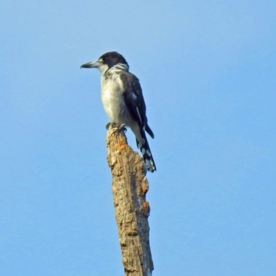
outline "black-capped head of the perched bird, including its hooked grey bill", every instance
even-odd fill
[[[106,52],[97,61],[85,63],[81,68],[99,68],[101,73],[105,73],[110,68],[128,71],[129,66],[126,59],[119,52]]]

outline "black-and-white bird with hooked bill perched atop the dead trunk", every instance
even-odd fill
[[[106,52],[97,61],[85,63],[81,68],[98,68],[101,72],[101,102],[112,127],[121,130],[129,127],[135,134],[146,168],[156,170],[148,145],[148,135],[155,137],[148,126],[146,103],[139,79],[129,72],[126,59],[119,52]],[[109,126],[107,124],[107,126]]]

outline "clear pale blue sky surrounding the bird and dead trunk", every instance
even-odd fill
[[[0,10],[1,276],[124,275],[100,73],[80,69],[110,50],[155,132],[153,275],[276,275],[275,1]]]

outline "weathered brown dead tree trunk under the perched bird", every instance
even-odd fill
[[[128,146],[124,131],[114,130],[108,129],[106,143],[125,275],[151,276],[146,168],[143,159]]]

